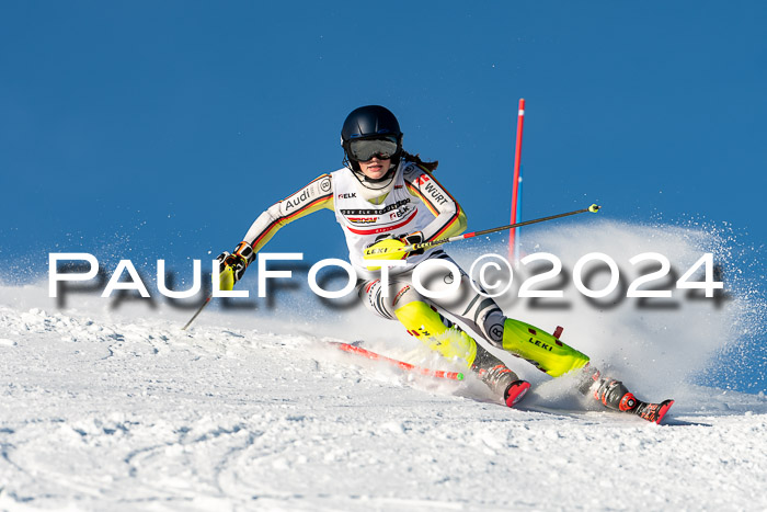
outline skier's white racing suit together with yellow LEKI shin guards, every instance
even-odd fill
[[[368,271],[363,260],[366,247],[381,237],[400,238],[420,232],[424,241],[431,241],[466,229],[466,216],[458,203],[415,162],[402,160],[392,182],[374,197],[370,197],[369,190],[363,190],[348,169],[317,178],[264,212],[248,230],[236,253],[250,263],[281,227],[321,208],[333,209],[344,230],[350,260],[362,277],[358,292],[366,307],[385,318],[398,319],[410,334],[422,339],[444,356],[462,361],[478,371],[480,366],[497,362],[446,318],[449,315],[493,346],[527,360],[551,376],[563,375],[588,363],[585,354],[553,335],[506,318],[492,298],[472,288],[469,276],[462,271],[458,292],[444,298],[421,296],[412,286],[412,271],[427,259],[449,260],[442,249],[411,255],[404,268],[391,269],[388,296],[384,297],[379,273]],[[448,270],[436,271],[427,287],[432,289],[434,283],[449,283],[455,278]]]

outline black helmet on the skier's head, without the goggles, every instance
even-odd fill
[[[341,128],[341,146],[344,148],[345,160],[353,167],[357,167],[356,161],[350,158],[352,140],[385,136],[397,137],[397,152],[391,158],[392,163],[397,163],[402,153],[402,132],[394,114],[380,105],[367,105],[353,110]]]

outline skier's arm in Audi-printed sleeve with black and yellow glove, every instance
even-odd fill
[[[282,227],[323,208],[333,209],[333,183],[330,174],[322,174],[295,194],[270,206],[251,225],[234,252],[224,252],[218,257],[221,262],[221,289],[232,289],[255,254]]]

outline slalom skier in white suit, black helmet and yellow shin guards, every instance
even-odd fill
[[[389,270],[388,289],[380,272],[368,266],[376,249],[392,249],[446,238],[466,229],[463,211],[435,179],[437,162],[424,162],[402,149],[397,117],[384,106],[354,110],[343,124],[341,145],[344,167],[322,174],[295,194],[263,212],[233,253],[218,257],[221,289],[232,289],[255,254],[283,226],[322,208],[332,209],[346,237],[350,260],[357,275],[359,297],[373,312],[399,320],[407,331],[443,356],[462,361],[495,394],[513,407],[530,385],[477,343],[442,312],[468,326],[492,346],[523,357],[552,377],[580,372],[579,389],[593,394],[609,409],[639,414],[660,422],[673,401],[645,403],[622,383],[603,377],[588,356],[537,327],[507,318],[492,298],[478,294],[461,270],[432,270],[431,283],[460,280],[458,292],[426,298],[413,287],[414,269],[433,259],[448,260],[442,248],[393,252],[404,266]],[[435,265],[436,266],[436,265]],[[459,268],[460,269],[460,268]],[[440,312],[442,311],[442,312]]]

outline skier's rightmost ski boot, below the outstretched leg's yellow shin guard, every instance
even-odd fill
[[[664,400],[661,403],[649,403],[639,400],[623,386],[623,383],[602,377],[598,369],[588,365],[583,368],[583,382],[579,386],[579,390],[584,395],[588,395],[593,389],[594,398],[608,409],[631,412],[643,420],[660,423],[672,405],[674,405],[674,400]]]

